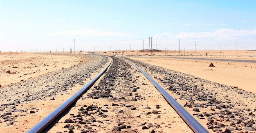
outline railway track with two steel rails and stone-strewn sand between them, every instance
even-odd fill
[[[110,62],[97,77],[27,133],[208,132],[157,82],[140,72],[138,66],[121,58],[112,58],[111,65]],[[75,105],[70,107],[73,102]],[[63,112],[66,115],[59,117]]]

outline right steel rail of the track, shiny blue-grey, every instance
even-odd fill
[[[124,58],[122,58],[124,59]],[[124,59],[127,60],[127,59]],[[147,73],[145,73],[142,69],[139,68],[136,64],[132,63],[130,60],[127,60],[132,65],[134,65],[141,73],[143,73],[148,80],[155,86],[155,88],[163,95],[164,99],[170,104],[173,109],[180,115],[180,117],[186,122],[190,129],[194,133],[209,133],[207,129],[204,128],[195,118],[189,114],[169,93],[167,93],[162,86],[160,86],[153,78],[151,78]]]

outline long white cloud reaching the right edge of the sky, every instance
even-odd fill
[[[247,29],[240,29],[240,30],[234,30],[234,29],[218,29],[213,32],[192,32],[192,33],[186,33],[181,32],[179,35],[177,35],[177,38],[206,38],[206,37],[212,37],[215,39],[224,39],[224,38],[232,38],[235,36],[243,36],[243,35],[256,35],[256,28],[252,30]]]

